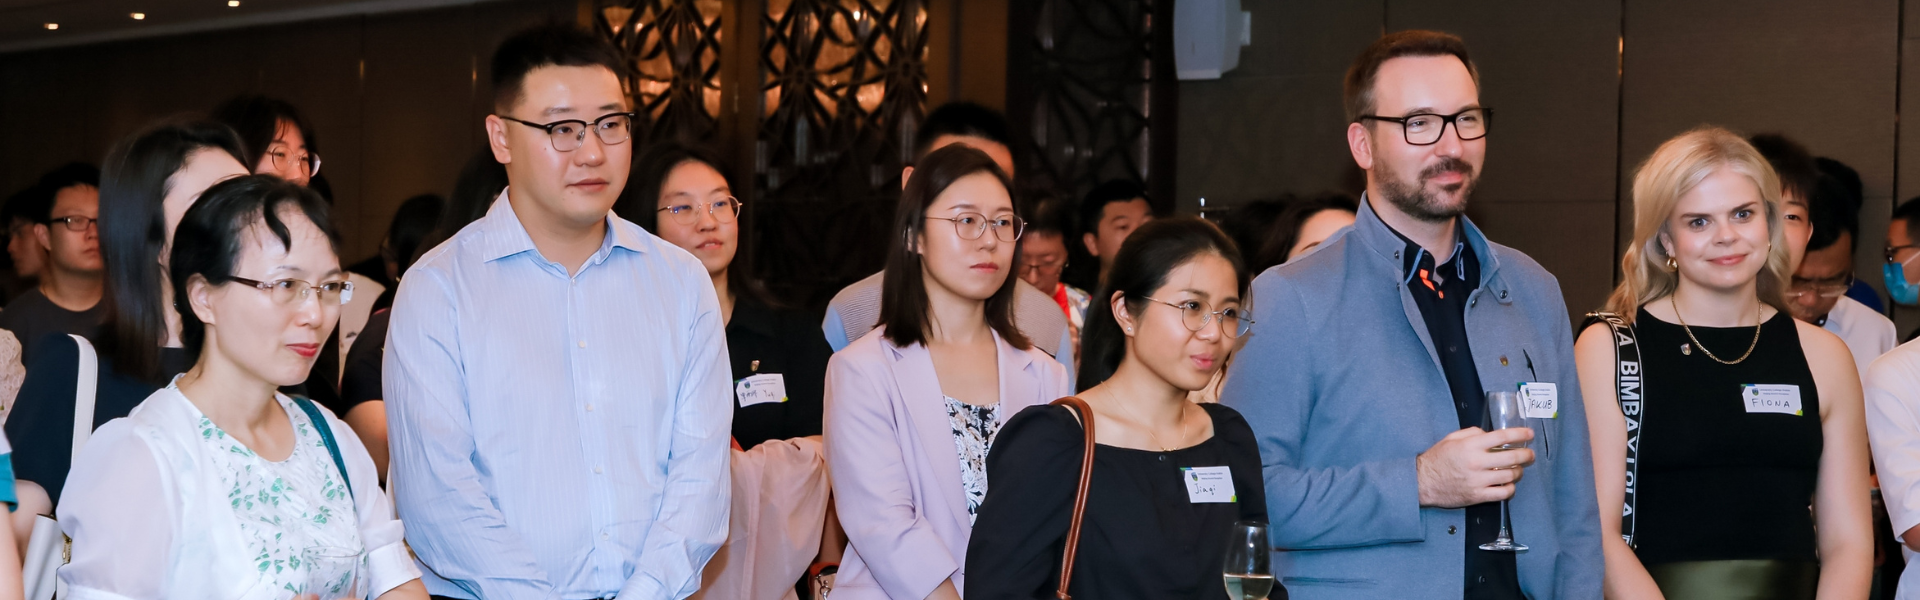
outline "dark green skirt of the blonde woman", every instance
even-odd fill
[[[1812,600],[1820,563],[1793,560],[1701,560],[1647,565],[1674,600]]]

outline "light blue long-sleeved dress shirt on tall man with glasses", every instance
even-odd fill
[[[576,275],[501,194],[407,271],[384,388],[426,588],[685,598],[728,533],[732,371],[707,269],[637,225]]]

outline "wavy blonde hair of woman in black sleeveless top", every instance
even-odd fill
[[[1620,258],[1622,277],[1607,298],[1607,312],[1632,321],[1640,306],[1674,292],[1680,273],[1667,269],[1670,256],[1661,246],[1661,235],[1668,233],[1667,225],[1680,196],[1720,169],[1745,175],[1761,188],[1768,248],[1766,263],[1757,275],[1759,300],[1786,310],[1789,273],[1786,233],[1780,229],[1780,177],[1759,150],[1732,131],[1699,127],[1667,140],[1636,169],[1634,242]]]

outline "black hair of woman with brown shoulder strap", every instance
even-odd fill
[[[1087,327],[1081,331],[1081,371],[1073,383],[1077,390],[1085,392],[1114,377],[1114,369],[1127,358],[1127,335],[1114,317],[1114,294],[1127,298],[1127,313],[1140,315],[1146,312],[1146,302],[1152,302],[1146,296],[1167,285],[1167,273],[1206,254],[1225,258],[1233,265],[1233,279],[1244,304],[1252,277],[1233,238],[1213,223],[1194,217],[1152,219],[1119,244],[1114,267],[1106,273],[1106,285],[1092,296]]]

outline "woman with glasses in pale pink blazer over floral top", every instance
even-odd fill
[[[849,540],[833,600],[958,600],[993,437],[1071,394],[1014,327],[1025,223],[1008,188],[979,150],[927,154],[895,212],[881,327],[828,363],[826,454]]]

